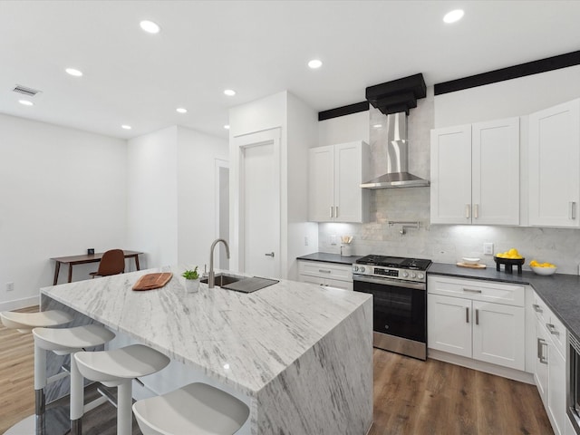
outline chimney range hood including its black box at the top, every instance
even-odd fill
[[[373,107],[387,115],[387,173],[361,184],[365,189],[417,188],[429,186],[429,180],[409,173],[407,115],[425,98],[427,88],[423,74],[366,88],[366,98]]]

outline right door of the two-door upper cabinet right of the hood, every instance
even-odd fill
[[[471,126],[472,222],[519,224],[519,118]]]

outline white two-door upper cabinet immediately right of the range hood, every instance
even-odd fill
[[[519,225],[519,118],[431,131],[431,223]]]

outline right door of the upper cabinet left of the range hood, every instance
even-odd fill
[[[362,222],[362,144],[334,146],[334,220]]]

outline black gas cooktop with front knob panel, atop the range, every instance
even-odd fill
[[[353,278],[366,275],[403,281],[425,283],[423,272],[431,265],[431,260],[405,258],[401,256],[363,256],[353,264]]]

